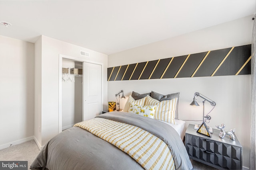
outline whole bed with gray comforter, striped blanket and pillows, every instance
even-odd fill
[[[30,169],[191,170],[179,93],[132,92],[124,111],[80,122],[52,138]]]

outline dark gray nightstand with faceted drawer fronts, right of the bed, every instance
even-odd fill
[[[238,139],[229,136],[219,137],[220,130],[212,129],[212,137],[196,133],[195,125],[189,124],[186,130],[185,145],[188,156],[217,169],[242,169],[242,145]]]

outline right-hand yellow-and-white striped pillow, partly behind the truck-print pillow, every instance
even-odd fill
[[[172,100],[164,100],[159,102],[158,100],[147,96],[145,105],[156,105],[154,119],[176,124],[174,118],[177,100],[178,98],[174,98]]]

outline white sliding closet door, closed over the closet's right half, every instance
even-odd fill
[[[83,63],[83,121],[101,113],[101,69],[99,64]]]

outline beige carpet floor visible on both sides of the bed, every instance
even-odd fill
[[[28,161],[28,170],[40,150],[38,149],[34,140],[28,141],[19,145],[14,145],[6,149],[0,150],[1,161]],[[192,170],[216,170],[211,166],[202,164],[195,160],[191,160],[193,169]]]

